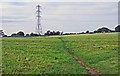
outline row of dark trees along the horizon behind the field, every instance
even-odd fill
[[[110,30],[107,27],[102,27],[99,28],[93,32],[89,32],[89,30],[87,30],[86,32],[81,32],[81,33],[63,33],[60,31],[50,31],[48,30],[46,33],[44,33],[43,36],[52,36],[52,35],[70,35],[70,34],[94,34],[94,33],[109,33],[109,32],[120,32],[120,25],[115,27],[115,30]],[[30,34],[24,34],[24,32],[19,31],[18,33],[13,33],[11,34],[11,36],[7,36],[4,34],[3,30],[0,30],[0,37],[23,37],[23,36],[40,36],[36,33],[30,33]]]

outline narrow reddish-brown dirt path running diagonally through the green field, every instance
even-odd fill
[[[61,40],[61,42],[63,43],[63,47],[66,51],[68,51],[68,53],[83,67],[85,67],[85,69],[92,75],[92,76],[99,76],[98,72],[95,71],[92,67],[86,65],[83,60],[80,60],[78,58],[77,55],[73,54],[70,52],[70,48],[66,47],[65,41],[62,39],[62,37],[59,38]]]

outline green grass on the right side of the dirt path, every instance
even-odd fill
[[[64,37],[71,53],[100,74],[118,74],[118,34],[86,34]]]

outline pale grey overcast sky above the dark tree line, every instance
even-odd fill
[[[94,31],[118,24],[118,2],[2,2],[2,28],[5,34],[23,31],[36,32],[36,5],[41,5],[43,32]]]

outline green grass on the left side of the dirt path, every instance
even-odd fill
[[[88,74],[58,37],[3,38],[4,74]]]

